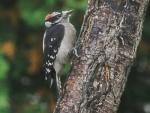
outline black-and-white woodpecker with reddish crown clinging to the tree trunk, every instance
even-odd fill
[[[72,11],[53,12],[45,17],[46,31],[43,37],[44,73],[45,79],[52,85],[56,80],[58,93],[61,93],[60,76],[64,64],[69,61],[76,30],[70,23]]]

